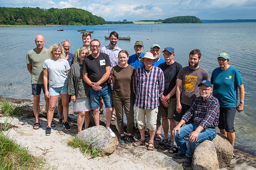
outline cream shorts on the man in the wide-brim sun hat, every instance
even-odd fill
[[[145,115],[146,115],[148,120],[148,129],[152,131],[155,130],[157,112],[158,112],[158,107],[156,107],[155,109],[140,109],[139,107],[135,106],[135,114],[136,114],[138,128],[143,129],[144,127],[146,127],[146,121],[145,121]]]

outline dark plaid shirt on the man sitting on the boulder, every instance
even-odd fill
[[[212,95],[203,101],[203,97],[196,97],[192,106],[182,119],[186,122],[193,117],[196,124],[202,126],[203,128],[215,128],[219,124],[220,117],[220,104],[216,97]]]

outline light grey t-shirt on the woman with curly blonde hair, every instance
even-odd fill
[[[63,87],[67,84],[68,76],[66,72],[70,69],[68,60],[47,59],[44,61],[43,68],[48,70],[50,87]]]

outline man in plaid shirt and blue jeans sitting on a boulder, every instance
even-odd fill
[[[203,80],[198,87],[201,96],[196,97],[190,109],[172,131],[179,149],[173,157],[186,158],[184,166],[191,166],[193,153],[200,142],[212,141],[216,137],[215,127],[219,123],[220,104],[218,99],[211,95],[211,82]],[[191,118],[194,123],[182,127]],[[184,138],[189,138],[188,147]]]

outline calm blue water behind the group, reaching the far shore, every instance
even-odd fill
[[[64,31],[57,31],[64,28]],[[235,146],[256,154],[256,23],[203,23],[203,24],[120,24],[101,26],[66,26],[66,27],[16,27],[0,28],[1,72],[0,86],[12,83],[12,88],[0,87],[0,94],[6,97],[32,99],[30,74],[26,67],[26,53],[35,48],[35,36],[42,34],[45,38],[44,47],[53,43],[69,40],[70,52],[82,46],[82,34],[77,29],[94,30],[92,38],[97,38],[101,46],[109,44],[104,39],[108,31],[118,32],[120,37],[131,36],[130,41],[120,40],[117,45],[134,54],[134,43],[144,42],[144,52],[157,43],[162,50],[171,46],[175,50],[174,60],[188,65],[188,54],[193,49],[200,49],[202,59],[200,66],[212,74],[218,67],[217,56],[220,52],[230,55],[230,65],[241,72],[245,100],[244,111],[236,114]],[[147,40],[149,38],[149,40]],[[161,58],[163,56],[161,55]],[[42,98],[43,100],[43,98]]]

